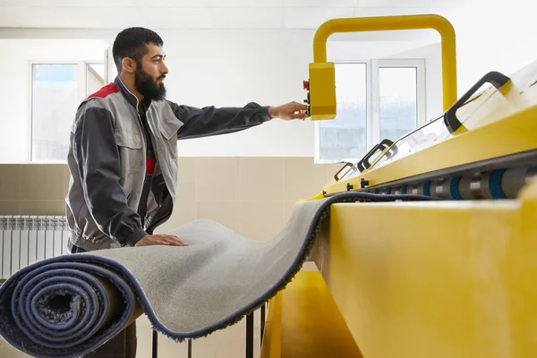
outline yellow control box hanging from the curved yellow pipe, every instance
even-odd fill
[[[336,72],[334,63],[310,64],[311,120],[336,117]]]

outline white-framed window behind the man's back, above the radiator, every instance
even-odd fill
[[[32,162],[66,160],[76,109],[103,85],[104,64],[31,64]]]

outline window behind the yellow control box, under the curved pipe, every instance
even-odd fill
[[[315,122],[315,161],[356,162],[425,123],[423,60],[337,63],[337,115]]]

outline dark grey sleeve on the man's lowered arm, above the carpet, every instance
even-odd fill
[[[127,205],[119,183],[120,160],[112,115],[98,107],[81,107],[80,112],[72,132],[72,152],[91,217],[99,230],[117,243],[134,246],[147,233],[141,217]]]

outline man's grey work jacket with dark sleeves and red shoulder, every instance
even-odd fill
[[[67,163],[65,198],[71,243],[86,251],[133,246],[172,214],[177,183],[177,140],[238,132],[267,122],[268,107],[180,106],[144,101],[156,152],[147,215],[138,206],[146,175],[147,141],[136,98],[116,77],[78,108]],[[143,114],[142,114],[143,115]]]

